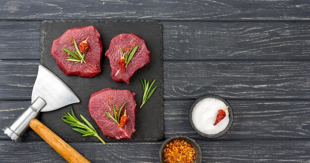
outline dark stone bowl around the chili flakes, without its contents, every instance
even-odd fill
[[[203,153],[201,152],[201,149],[200,149],[198,143],[197,143],[194,139],[192,139],[192,138],[190,138],[190,137],[188,137],[188,136],[177,135],[177,136],[172,136],[172,137],[166,139],[166,140],[161,144],[160,149],[159,149],[159,162],[160,162],[160,163],[164,163],[164,162],[163,162],[163,159],[164,159],[164,158],[163,158],[163,151],[164,151],[166,145],[167,145],[170,141],[173,141],[173,140],[185,140],[185,141],[187,141],[188,143],[190,143],[190,144],[193,146],[194,150],[195,150],[195,158],[196,158],[196,159],[195,159],[195,163],[202,163],[202,162],[203,162]]]

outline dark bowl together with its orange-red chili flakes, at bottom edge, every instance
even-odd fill
[[[188,136],[172,136],[159,150],[160,163],[201,163],[203,160],[198,143]]]

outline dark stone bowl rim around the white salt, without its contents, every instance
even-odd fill
[[[196,106],[196,104],[198,102],[200,102],[201,100],[205,99],[205,98],[215,98],[215,99],[218,99],[218,100],[221,100],[225,103],[226,106],[229,106],[228,107],[228,113],[229,113],[229,122],[228,122],[228,125],[226,126],[226,128],[224,130],[222,130],[221,132],[219,133],[216,133],[216,134],[206,134],[206,133],[203,133],[201,131],[199,131],[194,123],[193,123],[193,120],[192,120],[192,113],[193,113],[193,109],[194,107]],[[207,94],[207,95],[204,95],[203,97],[197,99],[194,104],[191,106],[191,109],[190,109],[190,113],[189,113],[189,117],[190,117],[190,122],[191,122],[191,125],[192,125],[192,128],[195,130],[195,132],[197,132],[198,134],[200,134],[201,136],[204,136],[204,137],[207,137],[207,138],[216,138],[216,137],[220,137],[222,135],[224,135],[231,127],[232,123],[234,122],[234,115],[233,115],[233,111],[229,105],[229,103],[223,99],[222,97],[220,96],[217,96],[217,95],[213,95],[213,94]]]

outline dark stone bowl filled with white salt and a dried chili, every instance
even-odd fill
[[[201,136],[216,138],[231,127],[234,116],[229,103],[217,95],[205,95],[197,99],[189,113],[192,128]]]

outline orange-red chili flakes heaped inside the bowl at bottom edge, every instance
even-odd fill
[[[164,163],[194,163],[195,149],[185,140],[169,142],[163,151]]]

